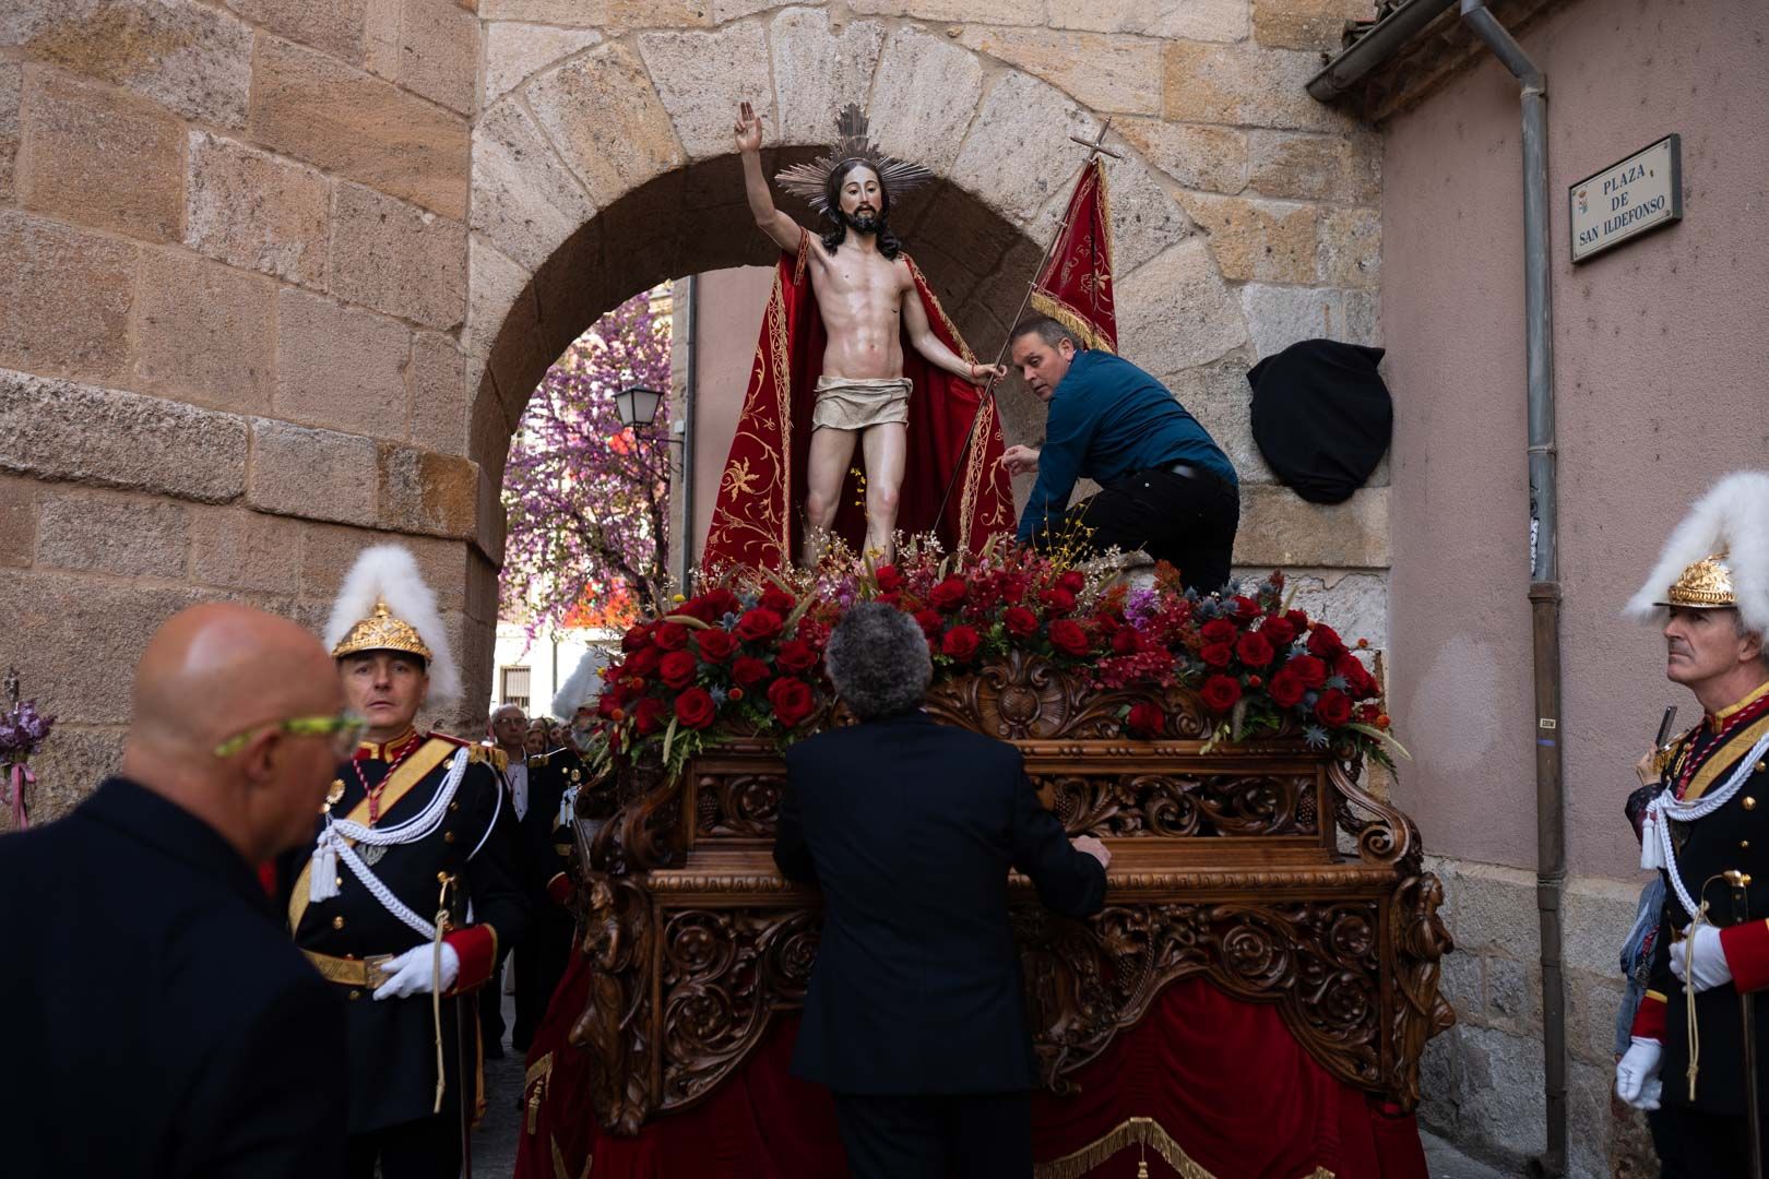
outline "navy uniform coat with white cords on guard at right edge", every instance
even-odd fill
[[[1673,780],[1682,769],[1682,758],[1695,757],[1698,765],[1684,794],[1684,802],[1696,802],[1704,792],[1721,788],[1737,769],[1739,760],[1764,734],[1769,734],[1769,716],[1741,725],[1718,746],[1709,746],[1704,741],[1702,726],[1698,726],[1677,744],[1666,776]],[[1665,910],[1652,947],[1647,999],[1640,1004],[1640,1015],[1635,1016],[1635,1034],[1645,1032],[1652,1038],[1663,1038],[1665,1055],[1659,1080],[1665,1085],[1663,1103],[1666,1107],[1742,1117],[1746,1112],[1744,1016],[1739,1008],[1739,986],[1760,992],[1769,985],[1769,923],[1765,923],[1769,917],[1769,767],[1753,765],[1751,776],[1739,792],[1705,818],[1688,824],[1673,822],[1672,840],[1677,843],[1677,870],[1689,900],[1696,905],[1705,900],[1707,919],[1721,926],[1721,946],[1735,981],[1695,995],[1700,1071],[1691,1101],[1686,1075],[1689,1064],[1689,993],[1670,972],[1670,956],[1682,953],[1681,942],[1672,944],[1672,930],[1688,926],[1691,914],[1684,912],[1677,891],[1670,887],[1670,870],[1661,870]],[[1723,879],[1714,879],[1727,870],[1739,870],[1751,877],[1751,884],[1746,887],[1750,919],[1744,923],[1734,921],[1732,887]],[[1739,928],[1730,928],[1734,924]],[[1753,1002],[1762,1004],[1762,999]],[[1663,1029],[1656,1025],[1659,1018]],[[1757,1084],[1760,1092],[1769,1094],[1769,1009],[1762,1006],[1757,1013]]]

